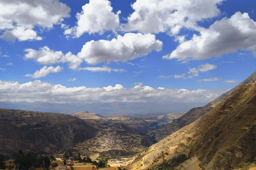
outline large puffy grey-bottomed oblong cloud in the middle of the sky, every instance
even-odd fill
[[[163,42],[156,40],[153,34],[127,33],[123,37],[86,42],[77,56],[89,64],[101,62],[126,62],[131,59],[146,56],[151,51],[161,51]]]

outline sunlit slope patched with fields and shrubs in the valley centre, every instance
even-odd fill
[[[92,158],[97,158],[102,154],[135,155],[144,150],[148,142],[151,142],[147,136],[134,133],[134,129],[120,122],[93,119],[87,121],[99,129],[93,138],[79,142],[73,149]]]

